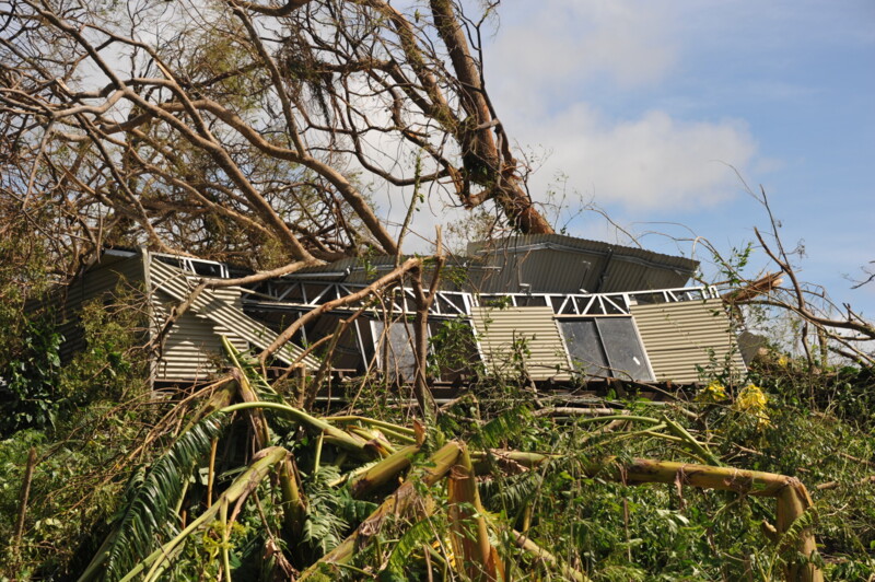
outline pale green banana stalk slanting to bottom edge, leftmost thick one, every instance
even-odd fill
[[[202,525],[209,523],[210,520],[215,519],[215,514],[219,513],[222,507],[228,508],[229,504],[235,503],[243,496],[248,494],[258,486],[261,479],[265,478],[265,476],[275,465],[285,459],[288,454],[288,451],[281,446],[271,446],[260,451],[258,453],[258,459],[249,465],[249,468],[247,468],[236,479],[234,479],[234,482],[232,482],[231,486],[225,489],[215,503],[213,503],[208,510],[194,520],[188,527],[183,529],[176,537],[161,546],[159,549],[150,554],[145,559],[140,561],[137,566],[135,566],[121,579],[120,582],[127,582],[136,577],[139,577],[147,568],[150,570],[147,572],[145,579],[152,579],[154,574],[164,567],[164,563],[171,559],[172,556],[176,555],[177,549],[183,543],[185,543],[186,538],[191,533],[197,531]]]

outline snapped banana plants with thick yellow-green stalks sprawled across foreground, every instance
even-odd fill
[[[277,500],[271,505],[281,516],[277,528],[272,529],[268,520],[257,527],[264,531],[252,535],[264,538],[265,551],[288,548],[285,557],[271,550],[275,567],[288,562],[283,568],[300,569],[299,580],[335,580],[350,574],[358,579],[409,577],[415,570],[446,578],[451,569],[466,580],[495,581],[512,579],[509,570],[514,563],[516,568],[527,564],[555,575],[588,580],[579,566],[544,550],[530,533],[515,531],[514,520],[493,513],[497,508],[486,507],[478,492],[478,473],[480,479],[500,480],[506,475],[504,465],[516,467],[516,474],[536,475],[556,470],[553,465],[561,461],[558,455],[489,446],[469,452],[470,444],[445,440],[434,427],[408,428],[363,416],[313,416],[287,404],[230,344],[226,349],[233,362],[232,375],[213,393],[219,398],[205,399],[188,428],[177,433],[166,452],[129,485],[120,517],[80,577],[82,582],[155,580],[172,571],[186,544],[198,544],[197,536],[212,536],[218,547],[212,561],[201,567],[231,580],[235,567],[230,556],[240,549],[232,540],[232,531],[247,511],[247,497],[255,499],[259,513],[267,500]],[[230,404],[232,399],[242,401]],[[252,426],[250,442],[223,436],[237,415]],[[583,421],[609,422],[615,418],[644,423],[650,434],[678,442],[693,456],[711,456],[705,444],[668,419],[621,415]],[[621,436],[635,434],[630,431]],[[289,450],[271,444],[290,442],[288,439],[294,439]],[[217,487],[221,492],[214,492],[219,440],[226,443],[225,447],[254,453],[244,455],[249,459],[237,469],[225,465],[224,474],[242,473]],[[480,442],[481,446],[486,443],[482,439]],[[296,468],[301,458],[307,458],[312,466],[307,486]],[[190,476],[205,464],[209,476],[206,499],[188,486]],[[331,479],[314,480],[319,472],[329,473]],[[583,473],[599,481],[629,486],[667,484],[678,490],[692,487],[774,498],[778,509],[770,539],[775,555],[785,557],[781,560],[784,578],[822,580],[812,526],[813,503],[797,479],[722,466],[618,457],[592,461]],[[279,478],[268,479],[271,474]],[[346,499],[345,503],[369,500],[362,505],[369,510],[357,512],[360,516],[337,528],[336,534],[350,532],[345,537],[335,536],[323,549],[302,551],[301,547],[313,542],[314,521],[326,517],[318,515],[325,509],[319,507],[322,498],[335,502]],[[192,505],[186,501],[190,499],[200,501]],[[190,513],[186,514],[184,508],[191,508]],[[529,514],[524,529],[532,519],[538,516]],[[275,542],[267,544],[269,539]]]

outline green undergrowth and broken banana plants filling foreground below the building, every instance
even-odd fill
[[[197,392],[95,398],[52,439],[2,443],[2,511],[25,515],[21,532],[3,520],[7,575],[865,580],[875,567],[872,420],[828,394],[853,383],[862,397],[867,371],[835,371],[820,411],[800,400],[798,362],[763,363],[740,389],[584,414],[505,381],[500,401],[472,391],[424,427],[385,391],[304,410],[228,351],[229,374]]]

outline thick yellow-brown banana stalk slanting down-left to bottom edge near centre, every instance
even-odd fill
[[[429,466],[419,467],[413,474],[387,497],[386,500],[374,510],[366,520],[335,549],[322,557],[317,562],[307,568],[298,581],[303,582],[316,574],[322,564],[343,564],[348,562],[355,552],[359,540],[365,536],[373,535],[380,529],[380,524],[389,514],[404,513],[413,502],[420,499],[417,492],[419,485],[430,487],[441,480],[456,464],[462,445],[456,441],[451,441],[441,447],[436,453],[429,457]]]

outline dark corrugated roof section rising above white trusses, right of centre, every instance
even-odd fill
[[[471,243],[468,254],[485,263],[471,269],[478,279],[474,284],[483,293],[670,289],[686,284],[698,267],[685,257],[561,234]]]

